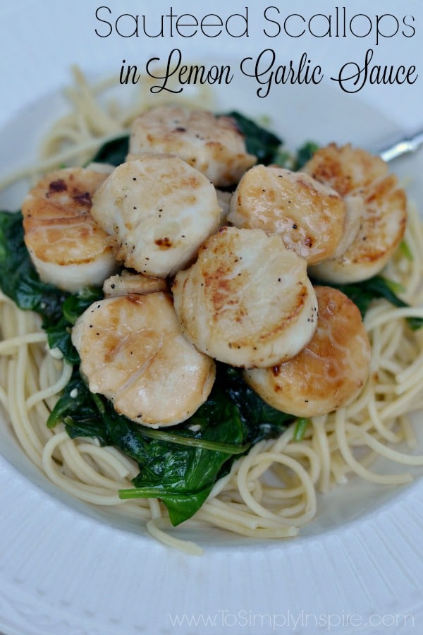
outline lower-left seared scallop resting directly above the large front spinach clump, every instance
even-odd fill
[[[94,303],[72,332],[90,391],[154,428],[185,421],[206,401],[214,361],[183,337],[168,294]]]

